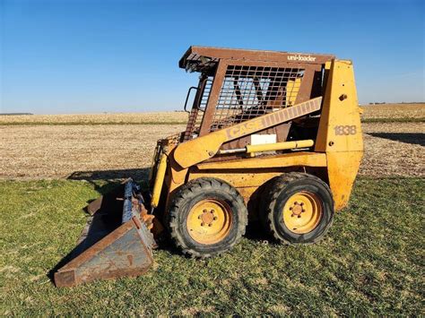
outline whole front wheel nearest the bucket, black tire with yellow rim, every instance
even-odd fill
[[[210,257],[236,245],[247,227],[247,208],[238,191],[214,178],[193,180],[170,204],[171,239],[186,254]]]

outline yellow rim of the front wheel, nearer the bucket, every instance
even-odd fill
[[[216,200],[203,200],[189,211],[186,227],[197,243],[211,245],[226,237],[232,225],[230,206]]]

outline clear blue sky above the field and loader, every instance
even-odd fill
[[[350,58],[360,103],[423,101],[424,5],[389,1],[0,0],[0,112],[180,109],[190,45]]]

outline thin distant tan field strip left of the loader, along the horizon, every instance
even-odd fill
[[[185,112],[105,113],[74,115],[0,116],[0,125],[100,125],[100,124],[169,124],[186,123]]]

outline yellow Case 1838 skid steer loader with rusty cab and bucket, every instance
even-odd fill
[[[189,47],[179,66],[200,73],[186,130],[157,142],[147,193],[128,179],[89,205],[56,286],[140,275],[164,233],[184,254],[224,253],[248,218],[311,244],[347,204],[363,154],[351,61]]]

